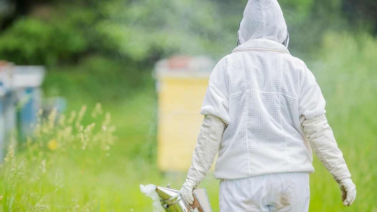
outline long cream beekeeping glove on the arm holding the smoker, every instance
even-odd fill
[[[227,125],[219,117],[214,115],[206,115],[204,117],[198,142],[192,155],[192,165],[181,188],[186,204],[193,203],[192,190],[198,187],[210,170],[226,127]]]

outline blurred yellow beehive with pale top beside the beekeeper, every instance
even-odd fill
[[[158,166],[187,171],[203,116],[201,104],[214,67],[205,57],[172,57],[157,63]]]

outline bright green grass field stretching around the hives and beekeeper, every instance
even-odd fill
[[[351,207],[344,207],[337,183],[315,157],[316,172],[310,176],[311,212],[377,211],[376,49],[377,41],[367,35],[330,33],[324,37],[317,56],[308,62],[326,98],[329,123],[357,187],[356,201]],[[100,72],[97,67],[101,66],[110,66],[116,73]],[[91,57],[73,70],[59,68],[47,75],[44,84],[47,96],[67,98],[67,111],[79,111],[83,104],[88,106],[84,125],[93,121],[100,125],[102,119],[91,118],[90,111],[95,103],[101,102],[103,111],[112,115],[118,140],[108,152],[95,143],[92,149],[82,150],[79,141],[76,147],[68,145],[67,151],[61,151],[60,147],[51,151],[44,146],[28,154],[27,149],[16,149],[15,163],[26,158],[25,167],[20,167],[24,174],[14,180],[7,180],[7,172],[2,175],[5,177],[1,182],[0,211],[10,208],[11,211],[151,212],[152,201],[139,192],[139,184],[172,183],[172,187],[180,188],[185,173],[161,173],[156,167],[154,81],[150,69],[135,69],[106,58]],[[130,80],[128,74],[116,75],[122,71],[138,74],[137,80]],[[44,138],[44,144],[48,141]],[[7,171],[7,167],[11,167],[9,163],[2,171]],[[11,186],[12,192],[9,186],[6,191],[7,183],[15,185]],[[219,182],[213,174],[201,186],[208,190],[213,211],[219,211]]]

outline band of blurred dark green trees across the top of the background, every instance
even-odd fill
[[[173,53],[207,54],[217,60],[236,45],[247,0],[237,4],[224,0],[14,2],[18,16],[0,33],[0,58],[54,66],[75,64],[90,54],[141,64]],[[362,2],[371,6],[356,7],[352,0],[279,2],[291,35],[290,49],[305,53],[320,43],[324,31],[347,28],[342,8],[365,9],[369,15],[360,18],[374,17],[375,2]]]

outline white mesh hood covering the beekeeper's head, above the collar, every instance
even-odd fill
[[[249,0],[238,31],[238,45],[265,38],[288,46],[287,25],[276,0]]]

